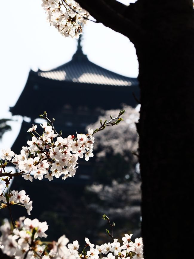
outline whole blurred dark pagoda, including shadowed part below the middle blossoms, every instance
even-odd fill
[[[10,107],[12,115],[23,117],[11,150],[20,153],[22,146],[31,139],[27,130],[32,124],[37,124],[36,119],[44,110],[49,118],[55,118],[55,129],[57,132],[62,130],[65,138],[75,135],[76,131],[87,133],[86,126],[96,122],[102,110],[121,109],[122,104],[135,107],[134,95],[139,97],[137,78],[122,76],[89,61],[82,52],[79,39],[77,51],[70,62],[49,71],[30,70],[16,105]],[[49,182],[48,179],[34,179],[31,183],[23,177],[15,177],[12,190],[26,191],[33,200],[30,218],[46,220],[49,224],[48,236],[57,239],[65,233],[71,240],[72,233],[77,233],[78,226],[85,224],[84,217],[88,217],[83,194],[85,185],[92,183],[94,166],[95,156],[88,162],[79,160],[76,175],[66,180],[53,179]],[[21,215],[28,217],[25,209],[17,207],[13,206],[16,218]],[[95,217],[91,216],[92,219],[95,220]],[[95,221],[90,224],[95,224]],[[88,233],[83,233],[83,237],[86,234],[92,236],[93,231],[91,228]],[[83,237],[80,233],[80,238]]]

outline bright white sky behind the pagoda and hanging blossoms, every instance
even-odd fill
[[[136,0],[120,1],[127,4]],[[70,61],[77,45],[75,39],[64,38],[50,27],[41,0],[8,2],[7,10],[0,15],[0,118],[11,118],[9,107],[19,98],[30,69],[49,70]],[[90,61],[118,74],[137,77],[136,51],[127,37],[88,22],[82,39],[83,52]],[[32,106],[36,103],[33,98],[29,100]],[[17,137],[21,118],[14,120],[18,122],[10,123],[13,130],[4,134],[0,150],[11,147]]]

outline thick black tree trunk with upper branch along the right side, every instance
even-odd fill
[[[90,1],[78,2],[85,4],[97,21],[135,44],[141,89],[138,133],[144,258],[181,258],[187,253],[182,244],[194,235],[192,0],[138,0],[127,9],[118,7],[119,18],[125,15],[130,19],[128,24],[123,20],[121,30],[117,20],[111,26],[110,16],[100,19],[99,12],[95,15]],[[103,8],[103,0],[93,2],[101,2]],[[108,3],[113,8],[113,1]],[[131,30],[133,22],[136,25]]]

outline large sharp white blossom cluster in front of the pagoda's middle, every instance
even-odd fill
[[[27,141],[28,147],[22,147],[19,155],[10,149],[2,150],[1,159],[7,163],[7,160],[13,157],[11,163],[20,170],[19,173],[23,174],[24,179],[32,182],[33,177],[42,180],[44,176],[51,181],[53,176],[59,178],[61,175],[62,179],[66,179],[75,175],[78,158],[84,157],[88,161],[93,157],[92,129],[88,129],[86,135],[77,134],[62,138],[54,132],[52,126],[47,125],[47,122],[41,127],[44,129],[42,135],[36,132],[37,125],[28,129],[33,135],[32,139]],[[33,176],[30,173],[33,173]]]

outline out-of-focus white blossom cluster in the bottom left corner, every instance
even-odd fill
[[[40,258],[45,250],[45,245],[40,246],[39,237],[47,237],[45,231],[48,225],[39,220],[30,220],[20,217],[16,222],[16,228],[12,230],[8,221],[0,227],[0,244],[3,253],[14,258]],[[26,257],[25,257],[26,256]]]

